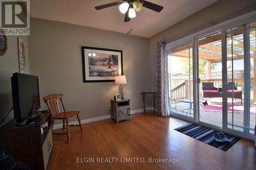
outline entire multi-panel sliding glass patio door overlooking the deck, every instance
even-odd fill
[[[250,18],[167,48],[170,114],[252,139],[255,36],[256,22]]]

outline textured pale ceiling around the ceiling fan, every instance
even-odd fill
[[[123,22],[124,14],[118,6],[96,10],[94,7],[118,0],[31,0],[31,16],[75,25],[99,28],[120,33],[130,29],[131,22]],[[216,2],[217,0],[148,0],[163,6],[158,13],[147,8],[132,19],[131,34],[152,37],[176,22]]]

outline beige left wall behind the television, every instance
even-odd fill
[[[17,37],[22,38],[25,43],[26,73],[29,74],[28,39],[27,36],[7,36],[8,51],[0,56],[0,122],[12,108],[11,77],[18,72],[18,45]],[[13,110],[6,118],[13,117]]]

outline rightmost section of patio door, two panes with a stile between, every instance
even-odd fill
[[[255,24],[225,30],[227,104],[223,112],[227,114],[224,130],[247,138],[254,133],[256,122]]]

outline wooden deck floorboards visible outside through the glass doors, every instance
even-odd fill
[[[237,101],[238,103],[240,101]],[[173,105],[175,106],[175,105]],[[176,105],[177,109],[172,108],[172,112],[176,112],[179,114],[183,114],[183,115],[187,115],[187,116],[191,116],[194,117],[193,115],[193,110],[190,112],[186,112],[186,111],[182,111],[184,109],[189,108],[189,104],[188,103],[177,103]],[[238,112],[234,112],[233,116],[232,116],[232,112],[228,112],[228,117],[227,117],[227,121],[228,121],[228,128],[233,128],[234,130],[239,130],[239,131],[243,131],[243,113],[238,113]],[[250,130],[249,133],[253,134],[254,133],[254,126],[255,126],[255,113],[250,113]],[[233,120],[233,125],[232,126],[232,120]],[[212,111],[212,110],[200,110],[200,121],[204,122],[204,123],[208,123],[211,125],[215,125],[215,126],[219,126],[222,127],[222,111]]]

